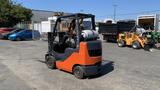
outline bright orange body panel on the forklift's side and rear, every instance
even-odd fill
[[[90,57],[88,54],[87,43],[81,42],[79,52],[74,52],[64,61],[56,61],[56,67],[72,73],[74,65],[94,65],[102,61],[102,56]]]

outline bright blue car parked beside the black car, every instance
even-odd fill
[[[12,41],[39,39],[40,33],[36,30],[22,30],[9,35],[8,39]]]

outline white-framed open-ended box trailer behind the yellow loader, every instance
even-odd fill
[[[158,14],[140,15],[137,18],[137,25],[143,27],[145,30],[160,31],[160,17]]]

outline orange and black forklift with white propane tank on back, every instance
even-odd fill
[[[50,69],[74,74],[78,79],[96,75],[102,63],[102,44],[95,31],[95,16],[72,14],[57,18],[48,33],[45,62]]]

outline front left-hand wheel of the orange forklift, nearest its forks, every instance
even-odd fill
[[[49,69],[56,68],[55,58],[53,56],[46,55],[45,56],[45,63]]]

